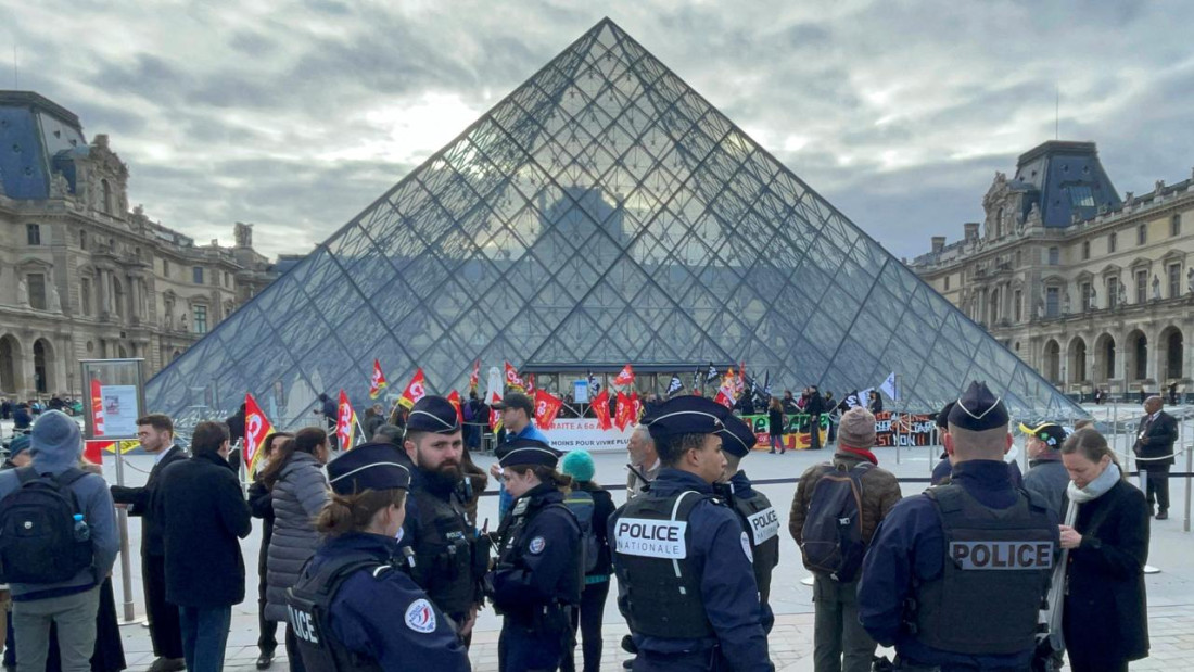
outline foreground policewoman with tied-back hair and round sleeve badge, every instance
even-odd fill
[[[393,446],[362,445],[327,466],[327,541],[287,591],[309,672],[469,670],[455,624],[394,567],[411,474]]]

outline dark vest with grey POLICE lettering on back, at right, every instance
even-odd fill
[[[925,491],[941,516],[941,577],[915,587],[916,637],[968,655],[1013,654],[1035,646],[1038,614],[1054,563],[1057,523],[1026,491],[1016,504],[989,508],[961,486]],[[960,628],[975,610],[981,628]]]

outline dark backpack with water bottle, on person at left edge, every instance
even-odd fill
[[[0,500],[0,582],[59,584],[92,566],[86,524],[75,535],[75,516],[84,511],[70,489],[86,475],[81,469],[56,476],[17,469],[19,487]]]

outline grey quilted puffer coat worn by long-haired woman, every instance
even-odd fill
[[[298,581],[303,563],[322,540],[315,517],[328,500],[327,476],[313,455],[295,452],[282,468],[271,493],[273,537],[266,557],[265,617],[285,622],[287,588]]]

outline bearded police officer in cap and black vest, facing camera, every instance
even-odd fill
[[[488,544],[478,548],[468,524],[462,461],[464,434],[456,407],[442,396],[416,402],[402,442],[414,463],[402,544],[414,551],[407,565],[414,582],[460,625],[468,643],[481,604],[481,577],[488,569]]]

